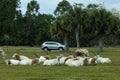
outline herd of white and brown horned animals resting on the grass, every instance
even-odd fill
[[[66,66],[84,66],[90,64],[105,64],[111,63],[109,58],[101,57],[100,55],[95,55],[93,57],[89,56],[89,51],[87,49],[78,49],[75,50],[73,55],[64,56],[59,54],[56,58],[51,58],[50,55],[46,56],[37,56],[33,59],[14,53],[11,59],[7,59],[7,55],[4,50],[0,48],[0,57],[5,61],[6,65],[66,65]]]

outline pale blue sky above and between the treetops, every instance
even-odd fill
[[[27,3],[31,0],[20,0],[21,1],[21,10],[22,13],[25,14]],[[40,13],[45,14],[53,14],[55,8],[57,7],[58,3],[62,0],[36,0],[40,6]],[[104,4],[106,9],[111,10],[115,8],[117,11],[120,12],[120,0],[67,0],[71,5],[74,3],[82,3],[84,6],[88,4]]]

